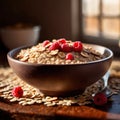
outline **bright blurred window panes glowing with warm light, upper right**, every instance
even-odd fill
[[[119,39],[120,0],[83,0],[84,35]]]

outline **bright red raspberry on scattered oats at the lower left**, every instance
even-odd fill
[[[14,97],[18,97],[18,98],[22,97],[23,96],[23,89],[20,86],[13,88],[12,95]]]

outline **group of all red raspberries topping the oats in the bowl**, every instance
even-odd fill
[[[43,46],[46,46],[48,43],[50,43],[50,41],[45,40],[43,42]],[[83,45],[80,41],[75,41],[75,42],[73,42],[73,44],[69,44],[66,41],[66,39],[61,38],[61,39],[58,39],[57,41],[53,42],[49,47],[49,50],[56,50],[56,49],[59,49],[60,51],[63,51],[63,52],[68,52],[66,54],[66,60],[73,60],[74,55],[71,52],[72,51],[81,52],[83,49]]]

